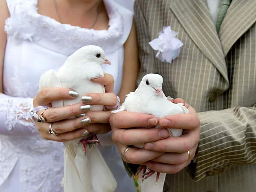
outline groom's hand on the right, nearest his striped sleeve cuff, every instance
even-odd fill
[[[182,99],[175,99],[173,102],[185,103]],[[186,108],[189,110],[187,114],[166,116],[160,119],[160,125],[164,128],[183,129],[180,137],[168,137],[164,140],[145,143],[144,148],[147,150],[165,152],[160,157],[145,163],[149,169],[174,174],[188,166],[195,156],[200,138],[200,120],[194,108],[188,104]],[[189,154],[190,158],[188,158]]]

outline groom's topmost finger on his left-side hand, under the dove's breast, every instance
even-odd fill
[[[158,119],[144,113],[120,111],[111,115],[110,122],[115,128],[151,127],[157,125]]]

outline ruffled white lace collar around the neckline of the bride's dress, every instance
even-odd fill
[[[71,55],[85,45],[97,45],[106,53],[122,46],[124,20],[118,9],[104,0],[109,16],[108,30],[85,29],[40,15],[37,0],[17,0],[12,5],[11,17],[6,20],[5,31],[17,41],[36,41],[42,46],[65,55]],[[108,44],[106,43],[108,41]]]

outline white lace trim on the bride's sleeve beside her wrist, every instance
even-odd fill
[[[29,111],[33,108],[32,98],[3,96],[1,100],[0,111],[6,111],[6,126],[8,130],[12,130],[16,124],[20,124],[30,128],[33,133],[37,131]]]

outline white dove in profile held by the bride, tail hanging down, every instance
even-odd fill
[[[104,76],[102,64],[111,64],[105,58],[105,52],[98,46],[84,46],[70,55],[63,66],[55,72],[49,70],[39,81],[40,90],[45,87],[64,87],[79,93],[75,99],[53,101],[52,107],[81,103],[86,93],[105,93],[102,84],[91,81],[94,77]],[[103,105],[92,105],[91,111],[102,111]],[[76,117],[73,117],[76,118]],[[95,146],[99,140],[96,134],[90,134],[77,140],[63,142],[64,152],[64,192],[113,192],[116,180]],[[86,145],[89,143],[89,148]],[[86,152],[86,154],[85,154]]]

